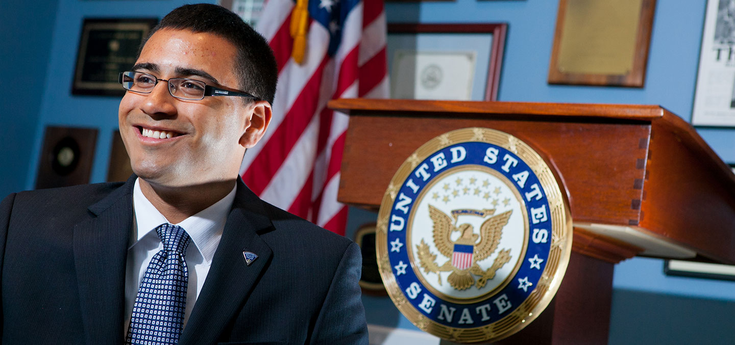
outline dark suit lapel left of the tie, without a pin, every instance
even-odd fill
[[[124,340],[125,262],[135,178],[90,206],[90,218],[74,228],[74,264],[87,344]]]

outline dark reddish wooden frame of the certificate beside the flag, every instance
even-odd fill
[[[388,24],[388,34],[492,34],[484,101],[498,101],[498,84],[500,84],[507,31],[507,23]]]

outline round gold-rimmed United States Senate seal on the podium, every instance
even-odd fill
[[[394,304],[421,330],[497,341],[537,318],[572,247],[569,202],[542,156],[462,128],[409,156],[383,197],[376,252]]]

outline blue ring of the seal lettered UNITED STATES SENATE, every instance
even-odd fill
[[[451,157],[451,149],[456,148],[457,146],[462,146],[463,148],[465,148],[465,150],[467,151],[466,159],[456,163],[452,163],[449,159],[447,159],[447,165],[443,167],[440,171],[432,172],[431,178],[427,179],[426,181],[423,181],[422,178],[410,178],[418,176],[417,170],[419,167],[422,166],[422,164],[426,163],[431,165],[431,157],[434,157],[440,153],[443,153],[445,157]],[[498,150],[498,161],[494,164],[488,164],[486,161],[483,160],[486,150],[488,150],[488,148],[495,148],[496,150]],[[504,163],[501,157],[505,155],[511,156],[517,160],[517,165],[512,170],[510,170],[510,172],[506,172],[501,169],[501,166]],[[486,142],[462,142],[456,145],[447,146],[445,148],[442,148],[441,150],[437,150],[436,152],[431,153],[431,155],[424,159],[422,162],[417,164],[415,170],[411,172],[409,178],[406,178],[406,181],[404,181],[397,192],[397,195],[401,195],[402,193],[412,198],[413,201],[406,205],[407,211],[404,214],[404,212],[398,211],[396,207],[396,203],[399,202],[399,198],[396,197],[388,219],[392,219],[394,215],[397,217],[406,217],[406,214],[413,214],[412,210],[415,206],[417,206],[416,197],[422,193],[423,189],[426,186],[429,186],[429,184],[431,184],[431,181],[434,178],[436,178],[442,172],[446,172],[453,168],[466,165],[490,167],[492,170],[503,174],[506,178],[508,178],[509,181],[514,181],[514,178],[512,177],[514,173],[523,170],[528,171],[529,175],[523,187],[520,187],[517,184],[513,184],[513,186],[517,188],[518,192],[520,192],[520,195],[526,195],[526,193],[534,193],[534,188],[537,188],[541,185],[538,176],[533,172],[531,167],[529,167],[528,164],[523,161],[523,159],[520,159],[519,156],[507,150],[506,148],[502,148],[501,146],[492,145]],[[414,191],[414,189],[409,186],[409,180],[412,180],[413,188],[415,188],[416,191]],[[534,185],[536,185],[536,187],[533,187]],[[398,287],[401,289],[401,291],[403,291],[406,300],[411,305],[413,305],[419,313],[422,313],[424,316],[428,317],[434,322],[445,324],[448,327],[455,328],[483,327],[487,324],[497,322],[503,317],[508,316],[510,313],[513,313],[513,311],[520,307],[520,305],[530,296],[530,294],[534,291],[534,288],[536,288],[546,267],[549,253],[551,251],[551,242],[553,242],[551,238],[551,230],[553,228],[550,213],[551,208],[546,198],[546,193],[544,189],[541,188],[538,192],[539,194],[534,194],[537,195],[537,197],[531,197],[530,200],[524,199],[523,207],[526,208],[526,212],[528,214],[527,221],[528,225],[531,226],[531,229],[548,229],[548,238],[544,238],[543,241],[534,241],[534,231],[531,231],[531,233],[529,234],[530,236],[528,236],[526,242],[526,254],[522,258],[520,268],[512,277],[512,280],[510,280],[510,282],[506,286],[501,288],[500,291],[497,291],[490,297],[483,297],[483,299],[478,302],[470,302],[467,304],[453,303],[444,300],[440,296],[437,296],[436,294],[429,291],[429,288],[423,286],[420,278],[416,275],[415,270],[417,271],[418,268],[412,268],[413,265],[418,265],[418,263],[412,262],[412,259],[409,258],[409,251],[406,250],[406,246],[409,245],[406,243],[406,236],[407,231],[410,230],[389,230],[387,234],[387,241],[388,247],[390,248],[390,250],[388,250],[390,267],[393,277],[395,277],[395,281],[396,283],[398,283]],[[537,219],[534,219],[534,213],[531,212],[531,208],[535,208],[537,210],[543,208],[545,210],[544,217],[542,219],[538,217]],[[422,304],[424,308],[421,308]],[[448,320],[446,320],[445,318],[442,319],[441,317],[439,317],[441,310],[440,305],[444,305],[445,308],[455,308],[458,313],[459,311],[467,309],[470,311],[470,313],[476,315],[473,318],[475,319],[475,322],[463,323],[462,318],[460,318],[459,316],[453,317],[451,322],[448,322]],[[481,311],[482,313],[480,313]]]

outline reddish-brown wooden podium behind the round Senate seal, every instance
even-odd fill
[[[661,106],[340,99],[350,115],[338,199],[377,210],[395,171],[447,131],[487,127],[548,157],[570,199],[566,275],[498,344],[606,344],[613,266],[635,255],[735,264],[735,175]]]

